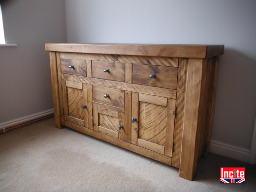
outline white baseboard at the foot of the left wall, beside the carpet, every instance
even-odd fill
[[[5,133],[7,131],[18,129],[20,127],[32,124],[34,122],[47,119],[53,116],[54,110],[44,110],[41,112],[37,112],[28,116],[20,117],[17,119],[13,119],[10,121],[5,121],[0,123],[0,133]]]

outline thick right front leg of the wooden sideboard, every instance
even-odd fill
[[[198,110],[201,93],[203,59],[188,59],[184,126],[181,144],[180,177],[193,179],[198,154]]]

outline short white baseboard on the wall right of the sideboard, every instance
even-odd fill
[[[250,157],[249,149],[236,147],[217,140],[211,140],[210,152],[246,163],[249,162]]]

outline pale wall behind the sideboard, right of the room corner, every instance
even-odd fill
[[[249,153],[256,0],[65,0],[65,10],[68,43],[224,44],[212,141]]]

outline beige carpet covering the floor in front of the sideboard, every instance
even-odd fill
[[[220,167],[246,167],[245,184],[220,184]],[[210,154],[194,181],[54,119],[0,135],[0,192],[256,192],[256,165]]]

